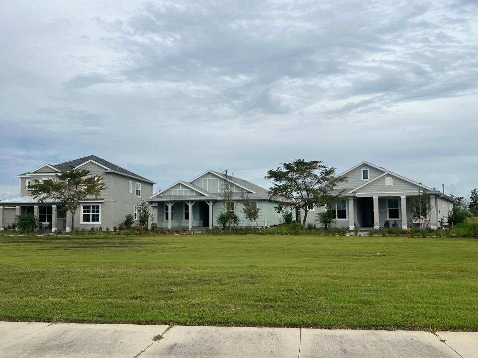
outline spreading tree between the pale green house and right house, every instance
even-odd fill
[[[292,163],[283,163],[282,167],[268,171],[265,176],[265,179],[272,180],[269,198],[282,197],[303,209],[302,232],[305,234],[309,207],[324,206],[342,195],[343,190],[335,195],[332,192],[347,178],[336,176],[335,171],[334,167],[328,167],[321,161],[297,159]]]

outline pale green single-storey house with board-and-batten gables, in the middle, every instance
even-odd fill
[[[226,211],[225,202],[221,199],[225,180],[233,187],[231,211],[239,216],[239,226],[254,226],[242,213],[241,195],[246,195],[259,208],[260,226],[271,226],[282,223],[282,215],[275,207],[285,200],[269,200],[268,190],[250,181],[230,177],[222,173],[208,170],[189,181],[179,180],[160,190],[150,199],[154,220],[159,228],[195,230],[217,226],[218,216]],[[291,206],[289,211],[294,213]],[[151,222],[150,222],[151,225]]]

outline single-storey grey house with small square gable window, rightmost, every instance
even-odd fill
[[[335,212],[334,226],[356,227],[401,227],[407,229],[419,218],[408,209],[410,197],[430,195],[430,212],[424,219],[424,226],[431,229],[448,223],[448,213],[453,209],[453,198],[422,183],[392,173],[369,162],[361,162],[340,177],[347,180],[340,183],[335,194],[342,192],[342,200],[332,204]],[[307,222],[316,223],[316,214],[324,207],[310,207]],[[301,210],[303,217],[304,210]]]

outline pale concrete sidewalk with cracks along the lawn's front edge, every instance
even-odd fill
[[[478,358],[478,333],[0,322],[0,357]]]

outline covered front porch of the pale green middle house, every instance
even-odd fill
[[[148,220],[148,228],[156,222],[158,228],[168,230],[187,229],[212,229],[214,226],[213,205],[214,200],[205,197],[191,198],[165,198],[156,197],[147,200],[150,212],[153,213]]]

